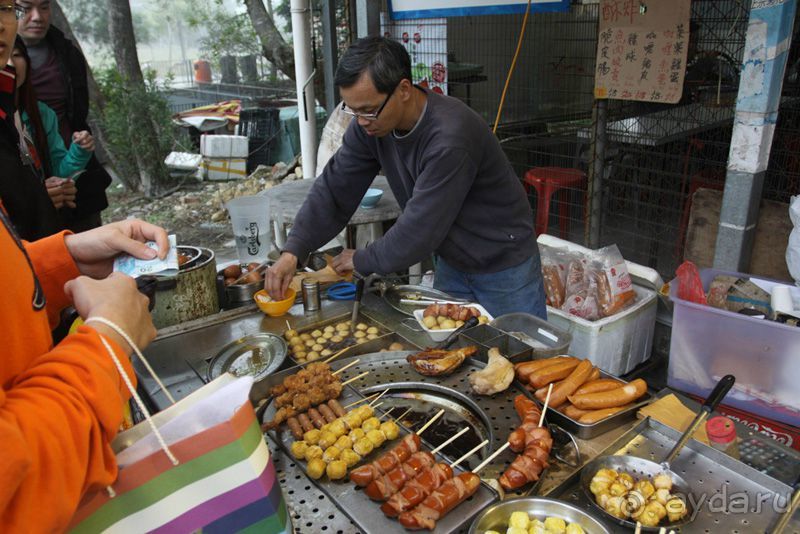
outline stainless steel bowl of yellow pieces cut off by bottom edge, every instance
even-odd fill
[[[527,512],[532,519],[540,521],[548,517],[560,517],[568,524],[576,523],[586,534],[609,534],[608,529],[587,512],[569,503],[545,497],[520,497],[490,506],[472,522],[469,534],[483,534],[487,530],[505,532],[512,512]]]

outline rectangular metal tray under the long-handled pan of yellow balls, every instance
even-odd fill
[[[679,438],[678,431],[646,418],[600,454],[631,454],[660,462]],[[691,498],[696,503],[693,521],[679,532],[765,532],[791,497],[786,484],[699,441],[690,440],[671,465],[692,484]],[[612,518],[598,515],[581,488],[580,477],[581,471],[576,471],[546,496],[592,513],[609,532],[630,532]],[[797,516],[785,532],[800,533]]]

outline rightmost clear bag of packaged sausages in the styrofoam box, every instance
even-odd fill
[[[602,317],[614,315],[636,300],[633,280],[617,245],[592,253],[590,276],[597,287],[597,304]]]

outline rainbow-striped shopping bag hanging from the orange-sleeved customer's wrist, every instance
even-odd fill
[[[291,532],[252,383],[223,375],[121,433],[117,480],[84,498],[69,530]]]

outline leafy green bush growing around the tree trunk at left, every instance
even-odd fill
[[[139,189],[140,174],[136,155],[150,162],[163,162],[169,152],[186,134],[172,123],[166,99],[159,93],[166,89],[159,86],[155,71],[144,72],[144,89],[129,84],[115,68],[96,72],[100,90],[106,98],[106,107],[101,118],[106,142],[114,154],[117,173],[130,189]],[[144,132],[155,129],[156,138]],[[163,189],[166,185],[166,168],[160,165],[160,176],[154,177]]]

